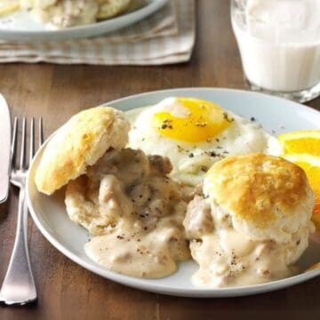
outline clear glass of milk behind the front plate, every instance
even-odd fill
[[[232,0],[231,21],[252,90],[320,95],[320,0]]]

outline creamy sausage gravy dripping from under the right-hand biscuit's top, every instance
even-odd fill
[[[308,246],[308,227],[288,243],[253,240],[232,227],[228,213],[202,196],[188,205],[183,223],[199,265],[192,282],[199,286],[261,284],[290,276],[295,272],[292,264]]]

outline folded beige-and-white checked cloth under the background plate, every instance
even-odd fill
[[[195,0],[172,0],[129,28],[63,42],[0,42],[0,63],[161,65],[190,59],[195,44]]]

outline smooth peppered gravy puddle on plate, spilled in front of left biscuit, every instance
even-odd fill
[[[175,226],[174,218],[162,219],[151,231],[135,232],[132,223],[123,220],[107,235],[94,236],[85,244],[85,252],[110,270],[146,278],[168,276],[177,269],[177,261],[190,258],[183,230]]]

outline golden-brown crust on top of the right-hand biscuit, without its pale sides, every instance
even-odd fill
[[[260,228],[290,215],[305,201],[308,188],[299,166],[259,153],[228,156],[213,164],[204,178],[207,196]]]

